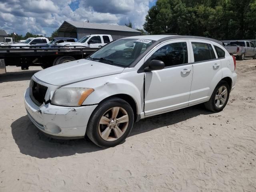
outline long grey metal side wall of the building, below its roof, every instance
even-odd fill
[[[124,32],[124,31],[77,28],[77,39],[80,39],[83,36],[90,35],[90,34],[107,34],[107,35],[111,35],[113,40],[116,40],[124,37],[138,36],[140,35],[140,32]]]

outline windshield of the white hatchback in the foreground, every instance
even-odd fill
[[[120,39],[105,45],[90,55],[90,60],[128,67],[154,41],[146,39]]]

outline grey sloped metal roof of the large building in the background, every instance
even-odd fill
[[[112,30],[112,31],[125,31],[125,32],[141,33],[138,30],[135,30],[133,28],[123,26],[123,25],[110,25],[110,24],[100,24],[100,23],[92,23],[92,22],[78,22],[78,21],[64,21],[63,24],[65,22],[69,23],[70,25],[72,25],[76,28],[101,29],[101,30]],[[60,26],[60,28],[61,27],[62,26]]]

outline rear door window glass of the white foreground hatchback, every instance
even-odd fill
[[[216,59],[211,44],[192,42],[195,62]]]

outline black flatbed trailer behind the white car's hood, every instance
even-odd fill
[[[20,47],[0,46],[0,74],[6,73],[6,66],[21,67],[27,70],[29,66],[50,66],[86,58],[98,48],[84,46],[42,46]]]

